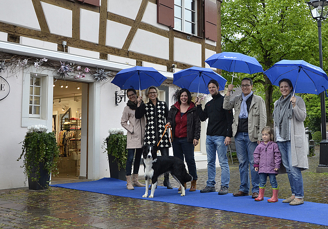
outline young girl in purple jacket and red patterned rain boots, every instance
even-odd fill
[[[270,184],[272,187],[272,197],[268,199],[268,202],[274,203],[278,201],[278,184],[276,180],[276,174],[280,168],[281,154],[277,143],[273,142],[273,130],[270,126],[266,126],[262,129],[261,142],[254,151],[254,168],[260,175],[260,191],[255,201],[263,200],[265,184],[267,183],[267,177],[270,178]]]

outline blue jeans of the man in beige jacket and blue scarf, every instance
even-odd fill
[[[250,167],[252,176],[252,193],[259,192],[260,176],[254,169],[254,150],[257,142],[251,142],[248,132],[237,132],[235,135],[237,158],[239,161],[240,187],[239,191],[250,191]],[[249,167],[250,166],[250,167]]]

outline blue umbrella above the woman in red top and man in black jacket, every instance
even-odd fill
[[[208,83],[210,80],[216,80],[219,88],[223,90],[227,80],[214,72],[211,68],[189,67],[173,74],[173,84],[187,88],[191,92],[209,94]]]

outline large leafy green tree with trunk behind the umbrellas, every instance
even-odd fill
[[[327,43],[322,26],[322,43]],[[221,5],[222,51],[239,52],[255,57],[267,70],[282,59],[303,59],[319,66],[318,30],[308,5],[292,0],[235,0]],[[327,66],[324,50],[324,69]],[[231,74],[222,73],[231,82]],[[238,74],[235,84],[247,74]],[[280,93],[267,76],[247,75],[262,96],[272,126],[273,102]],[[257,92],[257,93],[258,93]],[[275,100],[273,100],[275,97]]]

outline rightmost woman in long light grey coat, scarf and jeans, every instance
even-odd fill
[[[282,165],[286,169],[292,196],[283,203],[304,203],[301,171],[308,169],[304,120],[305,103],[301,97],[293,96],[293,84],[289,79],[279,81],[281,97],[274,103],[273,119],[276,142],[281,152]],[[281,172],[280,172],[281,173]]]

